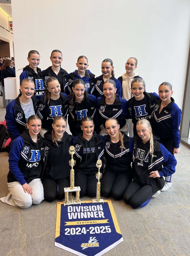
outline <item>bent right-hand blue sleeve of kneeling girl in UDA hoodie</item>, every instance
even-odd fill
[[[160,177],[167,177],[174,174],[177,161],[175,159],[175,156],[173,156],[161,143],[160,151],[162,152],[164,157],[164,164],[162,170],[159,171],[159,175]]]

